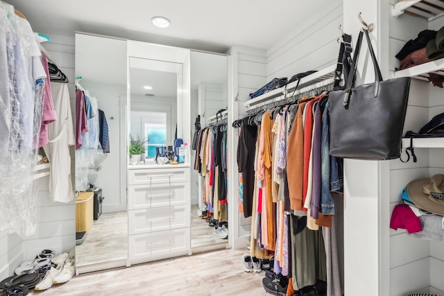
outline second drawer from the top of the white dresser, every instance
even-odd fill
[[[189,182],[128,186],[128,209],[189,204]]]

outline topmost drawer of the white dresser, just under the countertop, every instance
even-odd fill
[[[128,170],[128,184],[189,182],[189,168],[146,168]]]

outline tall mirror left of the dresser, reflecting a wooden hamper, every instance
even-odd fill
[[[76,129],[76,269],[126,265],[126,41],[76,34]]]

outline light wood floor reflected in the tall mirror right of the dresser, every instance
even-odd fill
[[[228,243],[214,235],[214,227],[208,226],[204,219],[197,216],[198,205],[191,205],[191,247]]]

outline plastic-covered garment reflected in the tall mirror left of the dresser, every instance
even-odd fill
[[[76,150],[76,191],[89,188],[88,173],[94,162],[103,156],[99,141],[99,107],[96,98],[85,91],[85,112],[88,131],[82,134],[82,146]]]

